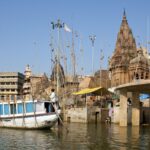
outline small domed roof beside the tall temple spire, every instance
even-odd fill
[[[130,61],[130,64],[139,64],[139,63],[141,63],[141,64],[148,65],[149,64],[148,59],[146,57],[144,57],[143,50],[142,50],[141,47],[140,47],[140,49],[137,50],[137,52],[138,52],[138,56],[136,58],[132,59]]]

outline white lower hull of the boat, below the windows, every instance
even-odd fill
[[[21,129],[46,129],[55,125],[56,113],[30,114],[24,116],[0,117],[0,127]]]

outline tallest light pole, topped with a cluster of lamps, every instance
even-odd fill
[[[60,56],[59,56],[59,53],[60,53],[60,29],[63,28],[64,26],[64,23],[61,23],[60,19],[57,20],[56,23],[54,22],[51,22],[52,24],[52,29],[55,29],[57,28],[57,36],[58,36],[58,48],[57,48],[57,53],[56,53],[56,86],[57,86],[57,95],[59,95],[59,87],[60,87],[60,84],[59,84],[59,63],[60,63]]]

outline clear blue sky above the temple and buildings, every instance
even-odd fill
[[[50,23],[58,18],[81,37],[75,43],[78,73],[82,73],[82,66],[85,74],[92,71],[89,35],[96,35],[94,69],[100,67],[101,49],[102,66],[107,68],[124,8],[136,42],[146,46],[150,40],[150,0],[0,0],[0,71],[24,72],[30,64],[34,73],[50,74]]]

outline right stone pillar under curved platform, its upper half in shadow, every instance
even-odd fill
[[[140,100],[139,93],[132,93],[132,125],[140,125]]]

